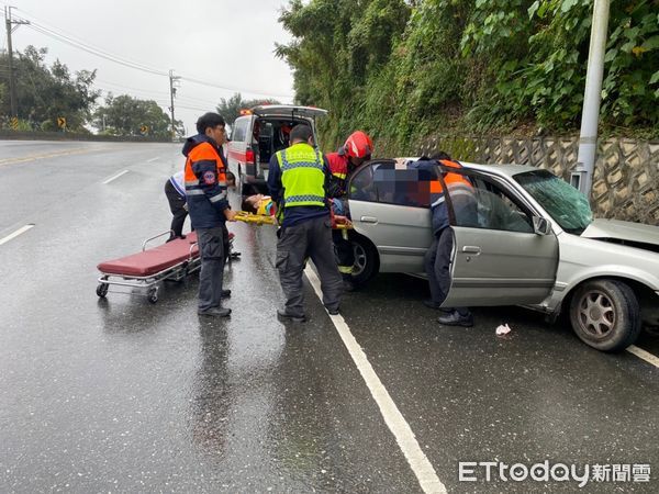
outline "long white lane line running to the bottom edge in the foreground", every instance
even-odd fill
[[[311,269],[310,266],[306,266],[304,273],[311,282],[315,294],[322,301],[323,292],[321,291],[321,282],[315,271]],[[364,381],[366,381],[366,385],[368,386],[373,400],[380,408],[380,413],[384,418],[384,423],[389,427],[389,430],[391,430],[391,434],[393,434],[395,437],[401,451],[403,451],[407,463],[410,463],[412,471],[421,484],[421,489],[425,493],[446,493],[446,487],[437,476],[433,464],[421,449],[421,446],[418,446],[412,428],[405,422],[403,414],[401,414],[395,406],[395,403],[389,395],[389,392],[382,384],[382,381],[380,381],[380,378],[378,378],[378,374],[376,374],[376,371],[368,361],[366,353],[350,333],[350,328],[344,321],[343,316],[340,314],[331,315],[330,318],[332,319],[332,323],[338,332],[340,339],[350,353],[353,361],[357,366],[361,378],[364,378]]]

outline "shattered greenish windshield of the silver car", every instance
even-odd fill
[[[588,199],[547,170],[515,175],[520,183],[566,232],[581,235],[593,221]]]

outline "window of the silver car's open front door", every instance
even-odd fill
[[[476,212],[472,210],[471,216],[467,220],[471,224],[463,226],[507,232],[534,232],[530,214],[521,207],[517,201],[501,186],[482,177],[472,177],[470,180],[473,184]],[[451,202],[456,201],[451,198]],[[459,217],[458,209],[456,209],[456,223],[460,225],[460,221],[465,221],[465,218]]]

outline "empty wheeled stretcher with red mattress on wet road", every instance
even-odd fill
[[[137,289],[150,303],[158,301],[158,287],[165,280],[180,281],[188,274],[199,270],[201,258],[197,245],[197,234],[188,234],[186,238],[177,238],[166,244],[147,248],[149,242],[170,235],[163,232],[147,238],[142,244],[142,251],[119,259],[101,262],[98,266],[101,276],[97,287],[97,295],[105,297],[110,285]],[[234,234],[228,234],[228,259],[239,256],[233,251]]]

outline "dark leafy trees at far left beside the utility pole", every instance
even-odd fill
[[[99,97],[99,91],[92,89],[96,70],[80,70],[71,76],[59,60],[47,67],[46,54],[47,48],[27,46],[24,53],[14,56],[21,125],[25,130],[52,131],[57,128],[57,119],[65,117],[70,131],[86,132],[82,125]],[[11,114],[8,67],[8,55],[1,54],[0,114],[5,117]]]

